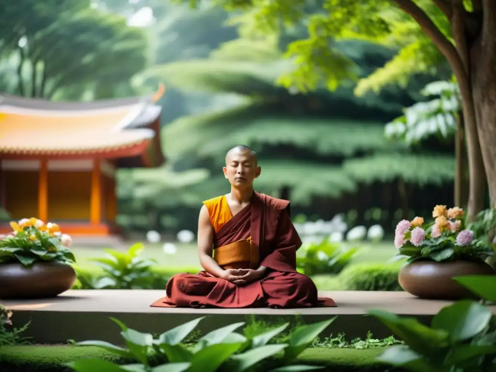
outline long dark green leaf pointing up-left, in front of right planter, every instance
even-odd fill
[[[431,329],[411,317],[400,317],[384,310],[369,310],[368,314],[384,323],[393,334],[421,355],[436,355],[448,345],[449,335],[443,329]]]

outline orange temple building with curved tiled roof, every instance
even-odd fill
[[[118,234],[116,171],[165,161],[155,104],[164,91],[90,103],[0,94],[0,205],[12,220],[37,217],[73,236]]]

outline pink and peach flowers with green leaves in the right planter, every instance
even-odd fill
[[[493,256],[494,249],[465,229],[463,215],[461,208],[436,205],[432,223],[424,224],[422,217],[400,221],[394,236],[396,257],[409,257],[407,263],[410,263],[418,259],[484,261]]]

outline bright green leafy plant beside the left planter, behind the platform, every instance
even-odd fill
[[[144,248],[136,243],[125,253],[104,249],[107,257],[90,260],[103,269],[104,275],[93,277],[79,271],[75,289],[150,289],[156,280],[150,269],[156,261],[139,257]]]

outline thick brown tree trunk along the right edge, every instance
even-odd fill
[[[487,13],[491,10],[487,9]],[[493,12],[495,13],[495,12]],[[472,96],[491,206],[496,208],[496,20],[487,20],[471,50]],[[493,27],[489,27],[489,25]]]

